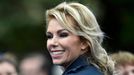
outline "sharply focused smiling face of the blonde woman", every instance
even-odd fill
[[[64,67],[84,53],[85,45],[77,35],[63,28],[56,19],[51,19],[47,28],[47,49],[54,64]]]

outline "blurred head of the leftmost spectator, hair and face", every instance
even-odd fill
[[[18,75],[16,57],[12,53],[0,55],[0,75]]]

